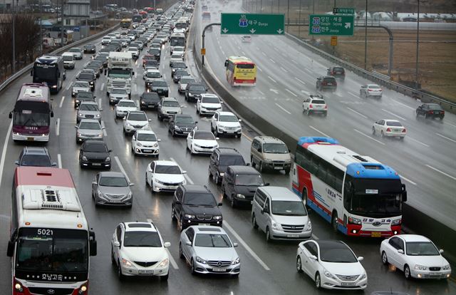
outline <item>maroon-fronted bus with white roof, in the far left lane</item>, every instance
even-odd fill
[[[14,110],[9,113],[9,118],[13,119],[13,140],[48,142],[53,115],[48,86],[23,84]]]

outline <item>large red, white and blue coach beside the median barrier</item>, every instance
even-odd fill
[[[398,173],[333,138],[299,139],[291,186],[335,231],[364,237],[400,233],[407,191]]]

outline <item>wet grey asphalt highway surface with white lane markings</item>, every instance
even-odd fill
[[[221,7],[219,1],[212,1],[214,6]],[[212,9],[212,6],[209,6]],[[195,14],[194,19],[197,19]],[[212,34],[217,36],[217,29],[214,29]],[[232,53],[236,52],[237,36],[219,37],[219,41],[223,44],[225,53],[228,50]],[[443,123],[425,122],[424,120],[415,121],[413,116],[413,103],[403,98],[394,97],[389,91],[386,93],[381,102],[373,102],[368,100],[360,100],[356,98],[358,91],[358,83],[351,76],[346,79],[343,89],[346,89],[355,96],[348,96],[341,90],[336,95],[328,98],[330,105],[330,113],[328,118],[303,117],[300,113],[300,104],[302,93],[301,90],[311,92],[313,90],[314,74],[301,71],[303,67],[294,66],[289,62],[286,56],[280,56],[279,51],[274,51],[274,45],[267,45],[271,42],[276,42],[278,38],[271,37],[254,38],[254,42],[249,44],[249,49],[242,48],[242,51],[247,53],[257,51],[255,48],[259,46],[261,50],[269,49],[270,56],[263,56],[257,53],[257,62],[261,68],[259,73],[259,83],[256,88],[248,90],[240,90],[239,95],[243,96],[245,104],[249,108],[257,108],[263,112],[270,120],[287,130],[290,133],[298,135],[319,135],[322,133],[333,135],[345,145],[350,146],[353,150],[365,152],[369,155],[374,155],[378,160],[388,162],[395,169],[399,170],[401,175],[407,177],[410,182],[415,185],[408,185],[410,202],[416,198],[416,202],[424,202],[426,194],[432,197],[438,197],[432,190],[446,192],[451,195],[455,192],[455,182],[445,178],[440,172],[427,168],[417,161],[417,157],[423,164],[429,164],[438,170],[447,172],[449,175],[456,175],[454,162],[450,157],[452,148],[456,143],[447,143],[445,138],[441,138],[436,133],[447,138],[452,138],[452,129],[455,127],[448,125],[455,118],[448,115]],[[230,42],[231,40],[231,42]],[[217,38],[208,38],[207,40],[212,48],[216,47]],[[258,41],[258,42],[257,42]],[[287,43],[287,51],[296,51],[296,44]],[[100,40],[95,42],[97,48],[100,49]],[[267,46],[266,46],[267,45]],[[239,43],[239,46],[240,43]],[[266,48],[268,47],[268,48]],[[145,51],[142,51],[144,53]],[[259,51],[261,52],[261,51]],[[268,54],[269,54],[268,53]],[[266,54],[266,53],[265,53]],[[296,51],[296,61],[308,63],[304,53]],[[170,84],[170,96],[177,98],[180,103],[185,106],[184,113],[192,115],[195,119],[198,118],[195,112],[195,103],[185,102],[184,96],[177,93],[177,84],[172,83],[170,79],[170,68],[168,58],[170,56],[169,47],[166,45],[162,49],[162,61],[160,63],[160,71]],[[224,54],[216,51],[209,51],[208,59],[210,65],[217,76],[223,81],[221,66],[224,62]],[[274,60],[274,63],[269,61],[269,58]],[[90,59],[89,55],[85,55],[82,61],[76,63],[76,69],[67,71],[67,79],[65,87],[57,95],[53,95],[54,118],[52,119],[53,128],[51,128],[51,140],[47,145],[53,159],[58,162],[59,167],[67,168],[73,175],[73,180],[76,183],[78,195],[83,203],[83,209],[88,218],[90,227],[96,233],[98,240],[98,255],[90,259],[90,294],[334,294],[331,291],[317,291],[314,287],[314,282],[309,277],[303,274],[298,274],[295,268],[296,247],[297,242],[271,242],[267,243],[265,235],[256,229],[252,228],[250,223],[249,209],[232,209],[229,207],[229,202],[222,200],[221,190],[209,180],[207,168],[209,158],[206,156],[190,155],[185,149],[185,138],[172,138],[170,133],[167,133],[167,122],[157,120],[157,114],[153,110],[147,111],[147,116],[152,119],[152,129],[157,133],[157,138],[160,138],[160,159],[175,160],[183,170],[187,170],[187,182],[196,184],[207,184],[214,195],[220,202],[223,202],[221,211],[224,217],[224,229],[227,230],[234,242],[239,243],[237,252],[242,262],[241,274],[239,279],[232,279],[225,276],[192,276],[189,266],[185,264],[178,255],[179,232],[177,224],[171,220],[171,194],[155,194],[152,195],[150,188],[145,186],[145,169],[151,158],[134,157],[131,152],[130,137],[125,137],[122,133],[122,120],[115,120],[113,107],[108,104],[105,90],[105,76],[100,76],[95,84],[95,95],[100,105],[103,106],[102,120],[105,125],[105,142],[108,147],[113,150],[111,158],[113,159],[112,171],[125,171],[131,182],[135,183],[132,187],[134,194],[134,202],[132,209],[116,209],[116,208],[95,208],[95,204],[90,197],[90,182],[98,172],[96,170],[81,170],[78,165],[78,150],[79,145],[75,143],[76,130],[76,110],[73,108],[73,99],[71,98],[71,82],[81,68]],[[140,94],[145,90],[144,82],[142,81],[141,59],[137,61],[135,70],[135,82],[133,85],[133,100],[138,100]],[[187,51],[187,64],[189,65],[192,75],[199,76],[192,61],[192,54]],[[323,73],[324,61],[315,58],[314,67],[309,71],[319,71]],[[269,65],[269,66],[268,66]],[[275,65],[277,70],[274,70]],[[288,73],[281,73],[282,66]],[[296,75],[299,73],[299,78],[307,84],[300,85],[298,80],[284,77],[290,73]],[[270,78],[274,81],[266,80]],[[291,76],[293,77],[293,76]],[[19,156],[24,145],[15,144],[11,140],[11,122],[8,119],[8,113],[14,106],[14,101],[22,83],[30,82],[30,76],[22,76],[17,79],[4,93],[1,94],[0,114],[4,118],[4,124],[0,126],[0,138],[4,140],[4,145],[1,152],[0,160],[0,176],[3,197],[0,199],[0,240],[3,241],[1,249],[3,255],[0,256],[0,276],[4,279],[0,281],[0,294],[9,294],[11,292],[11,267],[9,257],[6,257],[6,241],[9,239],[9,217],[11,214],[11,183],[14,172],[14,160]],[[307,86],[306,86],[307,85]],[[351,88],[350,88],[351,87]],[[274,91],[269,88],[279,91],[275,95]],[[286,94],[284,89],[288,89],[297,96]],[[261,94],[259,91],[262,91]],[[274,95],[272,95],[274,93]],[[287,92],[288,93],[288,92]],[[242,95],[241,95],[242,94]],[[261,94],[261,95],[260,95]],[[337,95],[340,94],[340,95]],[[276,100],[274,100],[276,99]],[[396,103],[394,102],[396,100]],[[342,101],[346,103],[342,103]],[[274,106],[275,105],[275,106]],[[280,107],[278,106],[280,105]],[[414,138],[423,144],[415,143],[410,138],[406,138],[403,143],[393,140],[383,140],[380,138],[372,138],[369,133],[371,128],[371,118],[380,115],[387,115],[388,112],[403,116],[407,120],[403,120],[410,130],[410,138]],[[366,116],[359,118],[359,115],[353,115],[353,110]],[[288,113],[287,113],[288,112]],[[373,112],[373,113],[369,113]],[[356,114],[356,113],[355,113]],[[389,115],[389,114],[388,114]],[[299,120],[295,117],[299,116]],[[295,120],[293,120],[295,118]],[[348,120],[349,119],[349,120]],[[447,120],[448,119],[448,120]],[[198,126],[200,129],[209,130],[209,122],[207,118],[198,118]],[[304,122],[308,120],[309,122]],[[341,123],[343,122],[343,124]],[[410,127],[408,126],[410,124]],[[439,125],[440,124],[440,125]],[[309,127],[312,126],[312,127]],[[357,133],[353,129],[359,131]],[[319,131],[317,131],[319,130]],[[424,132],[426,130],[426,132]],[[454,131],[454,130],[453,130]],[[245,160],[249,159],[249,149],[252,137],[255,134],[244,126],[244,134],[239,139],[221,138],[219,145],[224,147],[237,148],[244,155]],[[336,136],[337,135],[337,136]],[[427,136],[429,138],[427,138]],[[375,141],[377,140],[377,141]],[[380,144],[383,143],[383,144]],[[410,152],[403,152],[408,148]],[[435,155],[432,155],[429,150],[435,150]],[[412,150],[413,149],[413,150]],[[395,150],[395,155],[390,155],[388,150]],[[406,163],[404,166],[403,163]],[[446,163],[446,164],[445,164]],[[452,167],[453,166],[453,167]],[[440,174],[439,174],[440,173]],[[410,178],[409,178],[410,177]],[[271,185],[280,185],[290,187],[291,180],[284,174],[268,174],[264,173],[264,180],[270,182]],[[421,199],[423,199],[423,201]],[[433,199],[432,199],[433,200]],[[430,202],[430,201],[429,201]],[[444,202],[444,200],[440,200]],[[435,204],[430,202],[426,204]],[[445,205],[440,205],[437,210],[451,211],[450,200],[447,200]],[[454,205],[454,202],[453,202]],[[450,207],[445,209],[445,207]],[[393,271],[388,267],[383,266],[378,253],[380,241],[376,239],[358,239],[348,238],[341,234],[335,234],[331,231],[328,223],[324,222],[321,217],[314,212],[310,212],[311,221],[314,228],[314,239],[342,239],[356,253],[357,256],[365,257],[363,266],[368,274],[368,288],[366,294],[371,294],[372,291],[406,291],[409,294],[456,294],[455,281],[405,281],[402,272]],[[448,215],[451,218],[451,215]],[[163,239],[166,242],[171,242],[170,257],[170,279],[167,282],[160,281],[157,278],[129,278],[123,282],[118,280],[115,268],[110,262],[110,239],[112,237],[115,226],[124,221],[144,221],[150,219],[160,229]],[[350,294],[344,292],[344,294]]]

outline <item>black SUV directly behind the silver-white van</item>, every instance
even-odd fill
[[[223,175],[222,195],[227,197],[232,207],[251,205],[257,187],[269,185],[264,183],[261,173],[254,167],[229,166]]]

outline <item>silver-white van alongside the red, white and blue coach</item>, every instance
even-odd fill
[[[258,187],[252,201],[252,225],[271,239],[310,239],[312,224],[302,200],[286,187]]]

